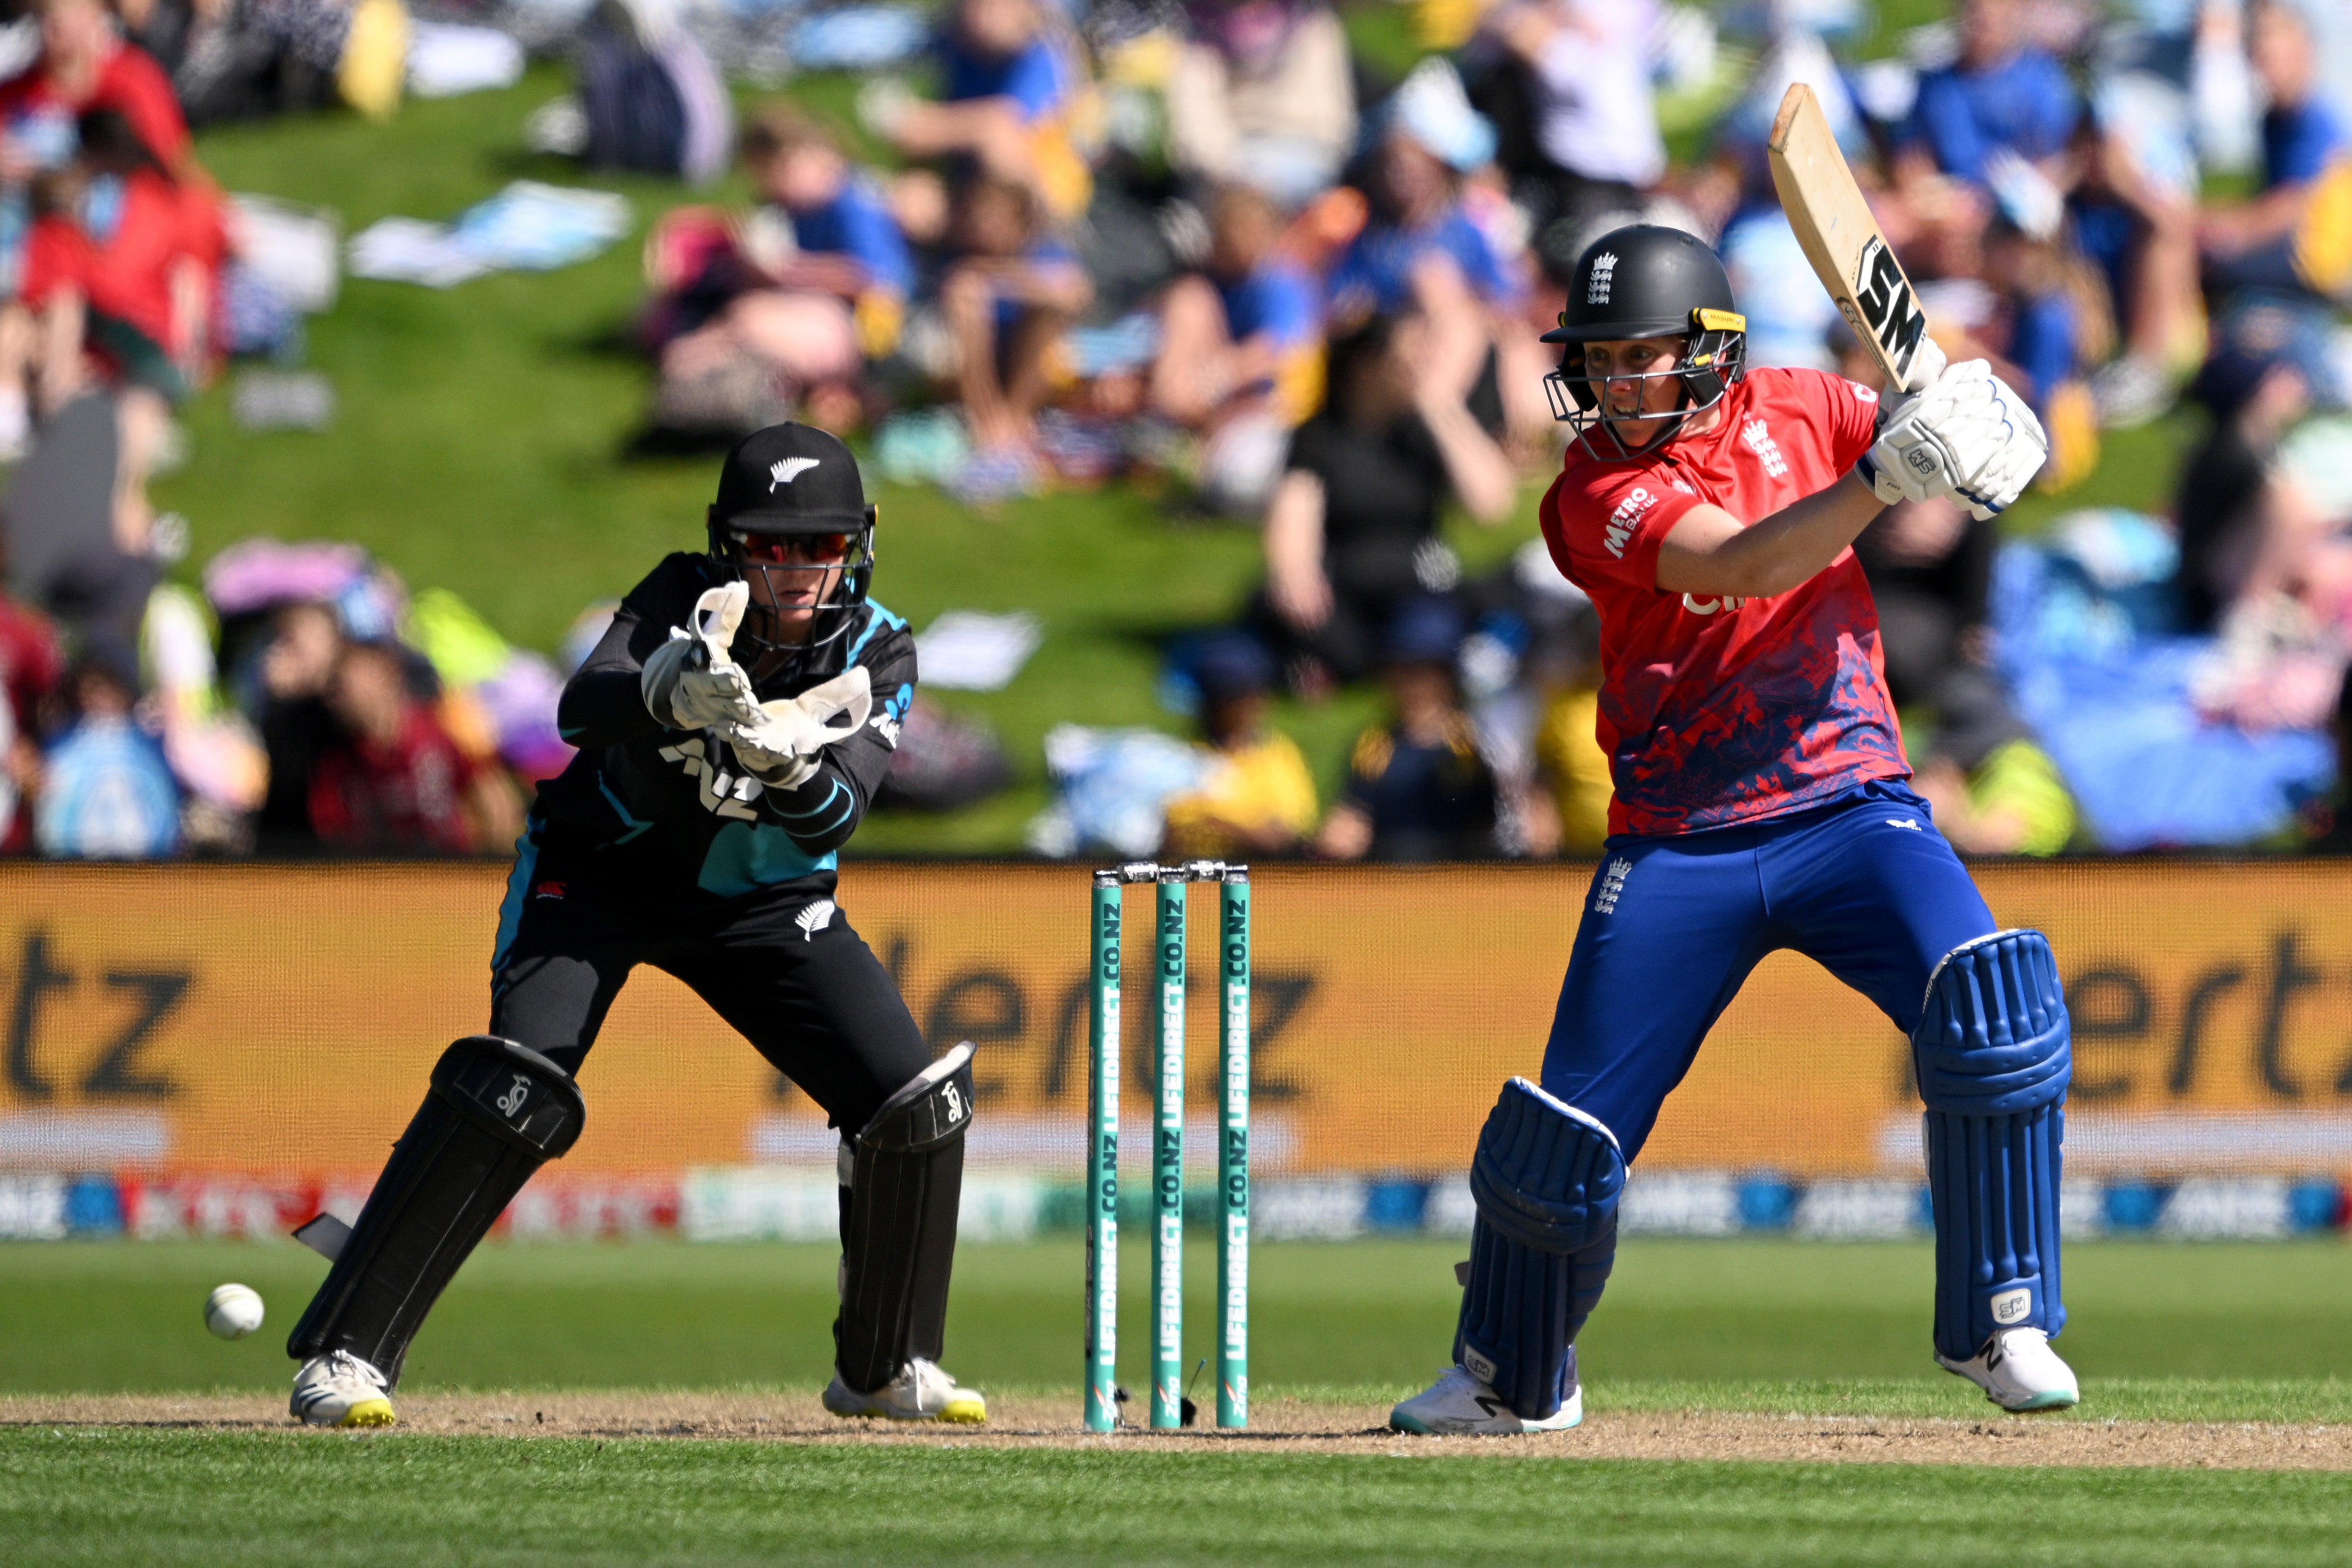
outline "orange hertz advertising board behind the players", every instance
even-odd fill
[[[1536,1074],[1590,865],[1272,865],[1254,886],[1256,1152],[1275,1171],[1468,1164]],[[2352,870],[1980,867],[2049,931],[2074,1011],[2072,1168],[2352,1171]],[[440,1048],[485,1027],[492,865],[0,867],[0,1166],[374,1171]],[[1129,990],[1150,919],[1129,893]],[[1087,875],[851,865],[844,914],[943,1048],[978,1041],[981,1161],[1080,1171]],[[1192,1105],[1214,1072],[1214,900],[1195,900]],[[1141,1088],[1143,1011],[1127,1060]],[[640,971],[581,1072],[572,1171],[823,1161],[804,1095]],[[1127,1098],[1145,1105],[1141,1093]],[[1773,954],[1717,1025],[1646,1168],[1835,1175],[1917,1161],[1907,1048]]]

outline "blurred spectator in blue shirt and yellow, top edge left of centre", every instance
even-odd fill
[[[1025,186],[1054,219],[1084,212],[1094,176],[1070,143],[1080,73],[1040,0],[957,0],[938,59],[938,103],[873,82],[858,99],[866,125],[906,158]]]

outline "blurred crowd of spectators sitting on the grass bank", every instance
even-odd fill
[[[1162,689],[1197,743],[1049,743],[1040,849],[1597,849],[1590,604],[1541,545],[1465,571],[1446,522],[1524,517],[1557,465],[1536,336],[1578,252],[1621,223],[1724,254],[1750,362],[1872,381],[1766,172],[1795,80],[1950,357],[1992,360],[2034,402],[2046,489],[2082,482],[2119,430],[2199,409],[2166,425],[2197,433],[2169,517],[2107,527],[2105,555],[2082,529],[2051,548],[2058,576],[2034,581],[2074,571],[2077,597],[2020,597],[1994,527],[1940,503],[1858,543],[1950,837],[2093,842],[2053,733],[2074,689],[2020,665],[2082,654],[2091,611],[2107,656],[2197,639],[2199,722],[2340,729],[2352,12],[2331,0],[1959,0],[1891,56],[1870,0],[1411,0],[1392,7],[1418,47],[1402,75],[1319,0],[426,14],[574,59],[576,94],[532,118],[532,146],[748,179],[750,205],[675,207],[644,244],[656,435],[795,416],[974,505],[1127,477],[1263,531],[1261,585],[1169,649]],[[146,480],[169,461],[172,409],[226,355],[285,353],[294,320],[188,120],[336,96],[386,113],[409,28],[400,0],[45,0],[0,28],[0,78],[16,68],[0,82],[0,447],[31,447],[5,508],[9,844],[489,849],[532,769],[560,766],[534,708],[555,668],[513,677],[532,656],[430,646],[426,595],[407,604],[365,562],[308,588],[278,562],[275,597],[235,571],[223,590],[221,562],[202,599],[158,588],[181,529]],[[858,80],[743,110],[724,89],[790,68]],[[374,583],[372,607],[353,581]],[[1272,698],[1364,682],[1388,717],[1319,802]],[[485,689],[506,722],[485,719]],[[108,823],[153,816],[146,837],[61,825],[101,795]],[[2314,835],[2343,837],[2307,804]]]

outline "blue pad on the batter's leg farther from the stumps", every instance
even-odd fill
[[[1997,931],[1947,952],[1912,1053],[1936,1206],[1936,1354],[1966,1361],[2002,1328],[2056,1335],[2072,1046],[2049,938]]]

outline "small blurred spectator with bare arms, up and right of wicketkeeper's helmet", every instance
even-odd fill
[[[948,221],[953,261],[938,308],[953,336],[955,388],[983,463],[1028,463],[1051,393],[1049,350],[1094,287],[1044,228],[1028,186],[974,179]]]

